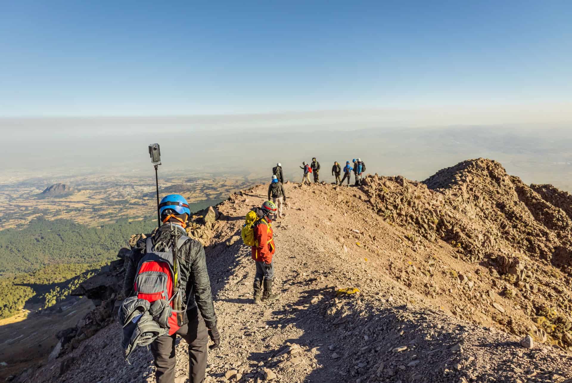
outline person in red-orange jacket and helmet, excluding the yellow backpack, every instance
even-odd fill
[[[252,259],[256,261],[254,303],[276,301],[278,295],[272,293],[272,279],[274,278],[272,256],[276,246],[272,238],[274,234],[270,224],[272,220],[269,218],[272,213],[276,212],[276,205],[267,201],[261,208],[256,208],[255,212],[261,218],[254,227],[254,238],[257,246],[252,246]]]

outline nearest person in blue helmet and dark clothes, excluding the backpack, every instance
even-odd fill
[[[161,220],[164,223],[153,235],[153,244],[165,243],[172,247],[171,225],[186,235],[185,227],[190,215],[189,205],[180,195],[168,195],[160,203]],[[123,292],[125,297],[133,295],[138,263],[145,255],[145,239],[138,240],[130,256],[125,258],[125,279]],[[186,310],[180,315],[181,327],[173,335],[162,335],[151,343],[151,352],[155,358],[157,383],[173,383],[175,378],[175,338],[180,335],[189,344],[189,380],[192,383],[204,382],[208,339],[220,345],[217,330],[217,318],[213,298],[210,292],[210,279],[206,270],[205,250],[195,239],[188,239],[177,250],[178,276],[182,289],[182,302]]]

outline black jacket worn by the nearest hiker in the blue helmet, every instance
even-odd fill
[[[182,235],[186,235],[184,228],[174,225],[181,230]],[[153,235],[153,243],[164,242],[171,247],[170,225],[162,225]],[[145,255],[145,239],[140,239],[133,248],[130,256],[125,258],[125,279],[123,282],[123,293],[125,297],[133,294],[133,283],[135,281],[137,266],[142,256]],[[201,311],[202,318],[205,319],[205,325],[209,329],[216,327],[217,319],[215,314],[215,306],[213,305],[213,297],[210,292],[210,279],[206,270],[205,249],[196,239],[188,239],[178,250],[177,259],[179,262],[179,278],[181,286],[186,286],[182,302],[187,302],[189,297],[189,305],[187,310],[198,306]],[[186,312],[183,316],[183,324],[187,323]]]

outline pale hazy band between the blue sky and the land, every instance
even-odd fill
[[[331,118],[340,114],[337,111]],[[37,177],[44,172],[62,177],[145,175],[152,171],[147,146],[157,142],[165,175],[200,172],[264,177],[280,162],[289,179],[299,181],[301,161],[315,156],[325,180],[329,180],[333,161],[343,164],[355,157],[366,161],[368,172],[423,180],[459,161],[488,157],[526,183],[551,183],[572,191],[569,123],[403,128],[387,121],[366,121],[375,113],[349,114],[346,117],[355,119],[353,123],[336,124],[329,116],[320,119],[319,112],[304,115],[308,117],[305,125],[300,123],[300,114],[289,114],[290,119],[249,115],[239,121],[236,116],[0,119],[10,143],[4,149],[0,175],[4,182],[24,173]],[[193,129],[197,119],[202,128]],[[310,119],[312,125],[308,125]],[[114,129],[117,125],[122,128]]]

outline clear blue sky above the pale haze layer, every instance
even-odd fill
[[[572,102],[570,1],[4,1],[0,116]]]

